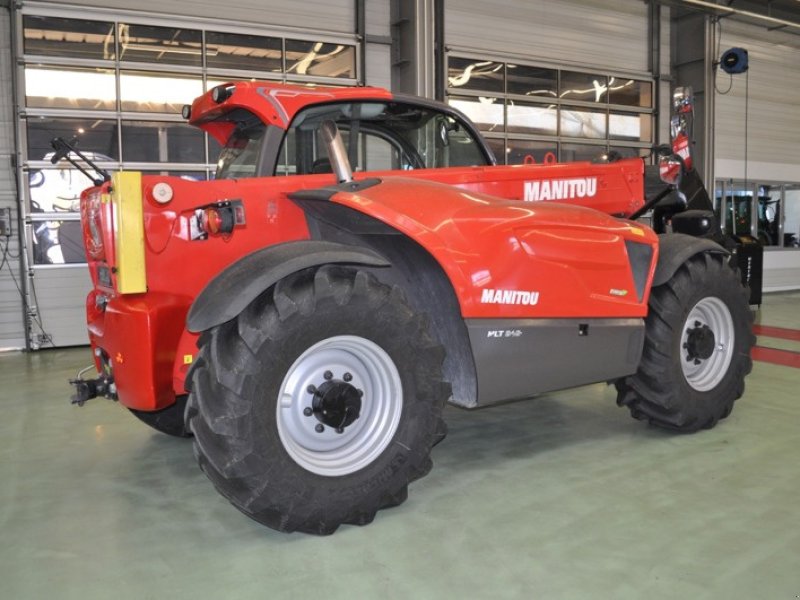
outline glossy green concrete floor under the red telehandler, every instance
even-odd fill
[[[800,294],[762,324],[800,329]],[[797,348],[800,349],[800,348]],[[367,527],[250,521],[191,443],[69,405],[85,348],[0,355],[0,598],[800,597],[800,371],[756,363],[733,414],[672,435],[595,385],[478,412]]]

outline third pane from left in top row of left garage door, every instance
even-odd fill
[[[280,73],[283,44],[280,38],[209,31],[206,33],[206,66]]]

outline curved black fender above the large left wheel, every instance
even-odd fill
[[[284,277],[331,263],[390,266],[369,248],[335,242],[302,240],[263,248],[239,259],[208,282],[189,309],[186,328],[199,333],[230,321]]]

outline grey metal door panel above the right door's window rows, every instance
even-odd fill
[[[531,62],[647,72],[647,4],[634,0],[445,3],[447,44]]]

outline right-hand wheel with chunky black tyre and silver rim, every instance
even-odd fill
[[[691,257],[653,288],[642,360],[616,382],[617,403],[659,427],[713,427],[744,392],[752,321],[747,290],[724,257]]]

